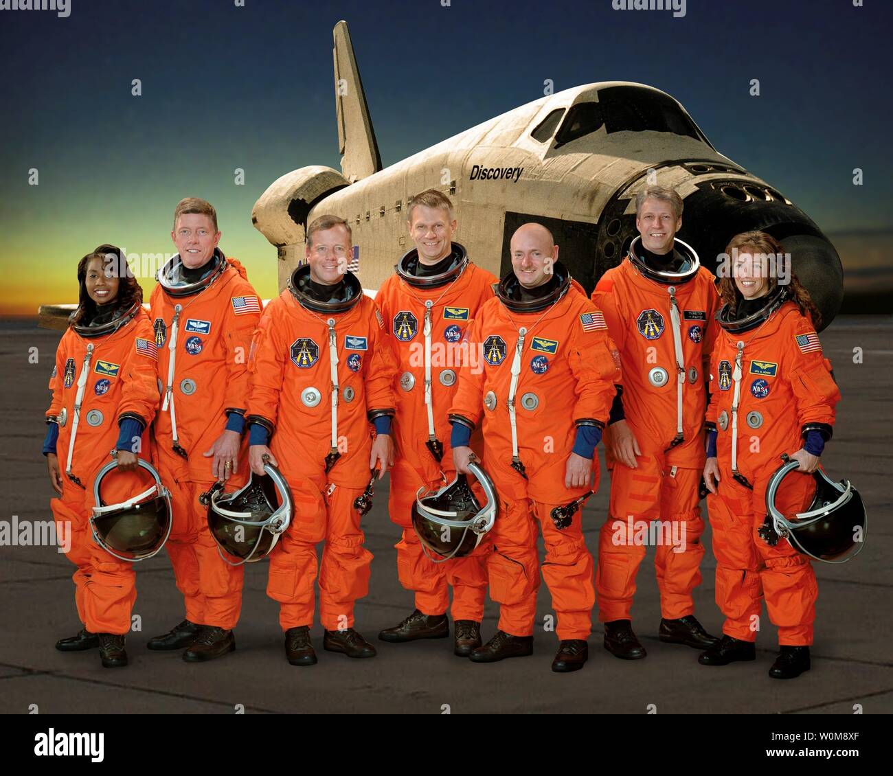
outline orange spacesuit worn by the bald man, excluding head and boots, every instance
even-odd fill
[[[450,418],[473,428],[483,415],[483,463],[500,502],[487,556],[490,597],[500,605],[499,630],[513,636],[533,632],[538,522],[558,638],[585,639],[595,589],[580,512],[562,530],[550,514],[589,492],[565,488],[564,476],[577,426],[600,429],[607,421],[613,385],[620,380],[613,342],[601,314],[573,288],[533,313],[514,313],[498,297],[488,300],[469,341],[482,352],[482,362],[463,367]],[[522,467],[513,468],[514,459]],[[597,456],[594,463],[597,471]]]

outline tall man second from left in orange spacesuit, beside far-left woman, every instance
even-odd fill
[[[245,268],[218,243],[217,213],[204,199],[177,204],[171,239],[178,253],[158,273],[149,317],[158,347],[161,411],[154,424],[158,470],[171,489],[173,527],[167,542],[186,618],[148,648],[188,647],[199,662],[236,648],[232,630],[242,605],[243,567],[221,558],[199,496],[214,480],[241,485],[252,333],[261,300]]]

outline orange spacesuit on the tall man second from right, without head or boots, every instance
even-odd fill
[[[598,619],[630,619],[646,553],[635,540],[636,524],[654,520],[684,523],[684,551],[663,543],[655,555],[662,616],[678,619],[694,613],[692,590],[701,581],[704,555],[698,486],[705,462],[706,371],[719,302],[714,276],[701,267],[687,282],[671,286],[648,279],[627,257],[605,272],[592,301],[604,311],[620,350],[623,413],[641,451],[635,469],[613,461],[610,508],[598,548]]]

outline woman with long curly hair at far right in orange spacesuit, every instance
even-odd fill
[[[793,679],[810,667],[815,599],[813,567],[786,538],[770,546],[757,534],[765,492],[780,456],[811,474],[831,437],[840,400],[830,362],[815,333],[819,313],[790,271],[789,254],[760,231],[732,238],[720,272],[721,332],[711,360],[704,480],[716,556],[716,603],[722,639],[700,655],[703,665],[755,659],[765,598],[778,627],[780,655],[769,675]],[[814,495],[811,476],[783,481],[775,504],[802,512]]]

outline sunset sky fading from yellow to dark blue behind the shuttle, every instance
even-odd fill
[[[538,99],[545,79],[555,91],[639,81],[680,100],[722,154],[826,232],[889,229],[891,15],[868,0],[689,0],[678,19],[611,0],[71,0],[67,18],[0,12],[0,314],[76,301],[76,264],[100,243],[172,252],[182,196],[215,205],[224,252],[274,295],[276,250],[251,208],[290,170],[340,169],[340,19],[386,166]],[[147,298],[154,281],[140,280]]]

